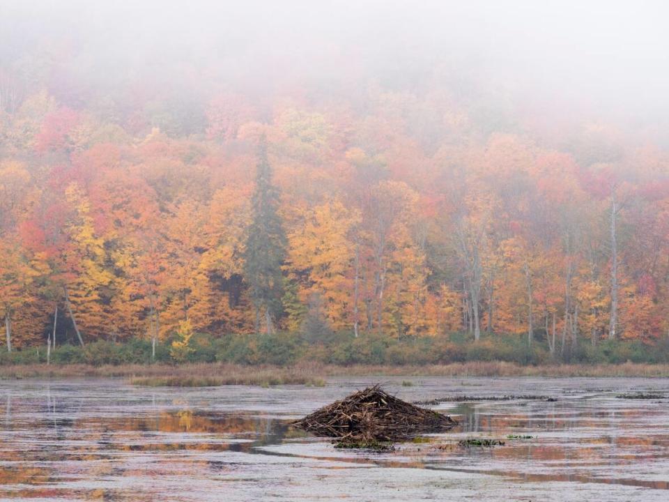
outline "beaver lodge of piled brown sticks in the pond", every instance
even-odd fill
[[[340,443],[364,444],[404,441],[417,434],[443,432],[457,422],[402,401],[376,385],[323,406],[293,425],[320,436],[338,438]]]

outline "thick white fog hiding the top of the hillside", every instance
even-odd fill
[[[460,100],[613,120],[666,142],[663,1],[5,0],[0,13],[3,68],[31,58],[34,73],[36,56],[68,54],[79,86],[150,75],[184,93],[317,85],[337,98],[374,82],[420,93],[436,79]]]

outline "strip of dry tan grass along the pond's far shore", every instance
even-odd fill
[[[667,364],[622,363],[619,365],[521,366],[505,362],[470,362],[446,365],[236,365],[196,363],[186,365],[3,365],[0,379],[76,377],[125,377],[144,385],[315,384],[328,377],[669,377]],[[146,379],[142,382],[139,379]],[[162,382],[161,382],[162,379]],[[152,383],[153,381],[153,383]],[[180,383],[181,382],[181,383]],[[197,385],[196,385],[197,386]]]

